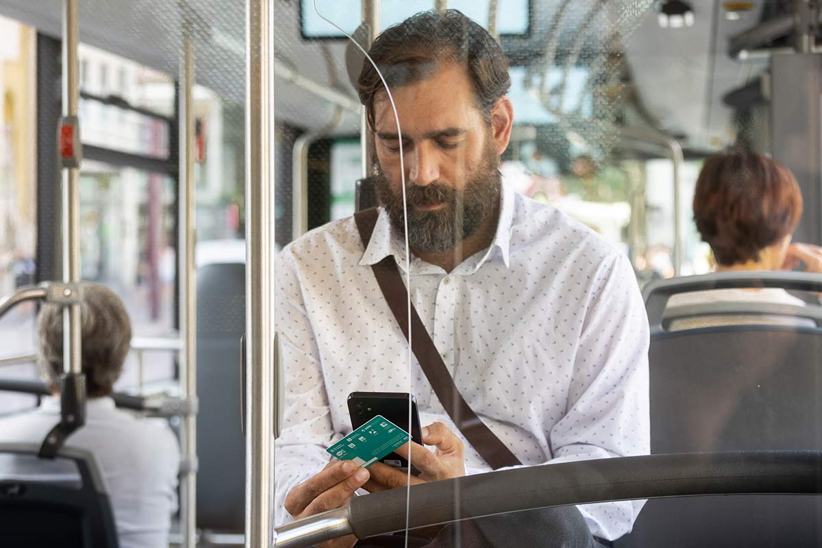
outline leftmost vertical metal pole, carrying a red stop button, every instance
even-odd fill
[[[77,116],[77,0],[65,0],[62,17],[62,115]],[[77,139],[79,141],[79,138]],[[80,167],[62,170],[62,281],[80,281]],[[81,372],[81,306],[62,312],[62,364],[65,373]]]

